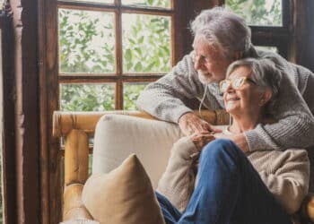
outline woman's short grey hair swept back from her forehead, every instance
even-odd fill
[[[259,89],[266,90],[269,88],[272,90],[272,98],[267,103],[267,107],[272,108],[279,94],[282,71],[270,59],[245,58],[228,66],[226,78],[240,66],[246,66],[251,70],[250,79],[257,83]]]

